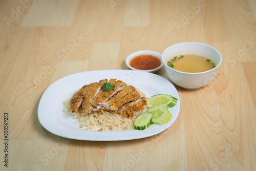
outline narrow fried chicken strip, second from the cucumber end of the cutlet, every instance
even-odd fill
[[[130,101],[136,100],[137,98],[140,97],[140,94],[138,91],[134,91],[126,96],[124,96],[123,98],[121,98],[120,100],[118,100],[117,102],[115,102],[112,106],[111,106],[111,110],[112,111],[116,111],[118,110],[118,108],[122,105],[124,105],[125,103],[128,103]]]

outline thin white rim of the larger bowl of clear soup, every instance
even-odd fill
[[[164,60],[163,60],[163,55],[164,55],[164,53],[165,53],[169,48],[171,48],[171,47],[173,47],[173,46],[176,46],[176,45],[180,45],[180,44],[198,44],[198,45],[203,45],[203,46],[206,46],[206,47],[208,47],[208,48],[214,49],[214,50],[219,54],[219,56],[220,56],[220,62],[219,62],[219,64],[218,64],[215,68],[212,68],[212,69],[210,69],[210,70],[203,71],[203,72],[196,72],[196,73],[183,72],[183,71],[178,71],[178,70],[175,70],[175,69],[173,69],[173,68],[170,68],[170,67],[167,66],[167,64],[164,62]],[[176,71],[176,72],[179,72],[179,73],[183,73],[183,74],[202,74],[202,73],[207,73],[207,72],[211,72],[211,71],[213,71],[213,70],[218,69],[219,66],[221,65],[221,62],[222,62],[222,56],[221,56],[220,52],[219,52],[217,49],[215,49],[214,47],[211,47],[211,46],[209,46],[209,45],[207,45],[207,44],[203,44],[203,43],[201,43],[201,42],[188,41],[188,42],[180,42],[180,43],[178,43],[178,44],[174,44],[174,45],[169,46],[168,48],[166,48],[166,49],[163,51],[163,53],[162,53],[162,62],[164,63],[164,66],[165,66],[165,67],[168,67],[169,69],[171,69],[171,70],[173,70],[173,71]]]

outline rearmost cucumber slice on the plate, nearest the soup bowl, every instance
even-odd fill
[[[163,105],[167,108],[173,108],[176,105],[178,99],[167,94],[157,94],[148,98],[148,107],[151,108],[156,105]]]

